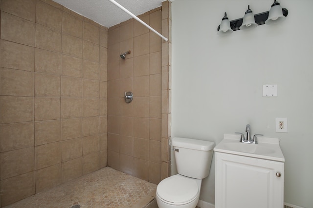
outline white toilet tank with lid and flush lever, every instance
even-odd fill
[[[172,138],[177,171],[180,175],[202,179],[209,175],[214,142]]]

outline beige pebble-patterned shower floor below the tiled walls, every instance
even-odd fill
[[[4,208],[130,208],[155,189],[155,184],[106,167]]]

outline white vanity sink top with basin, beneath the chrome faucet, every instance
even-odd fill
[[[258,137],[258,144],[240,142],[240,135],[224,134],[214,151],[285,162],[278,138]]]

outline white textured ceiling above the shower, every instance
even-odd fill
[[[53,0],[68,9],[105,26],[112,27],[132,17],[109,0]],[[134,15],[140,15],[162,5],[165,0],[115,0]]]

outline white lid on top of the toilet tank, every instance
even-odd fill
[[[213,150],[215,143],[199,139],[174,137],[172,138],[172,145],[174,147],[188,148],[192,150],[210,151]]]

